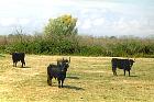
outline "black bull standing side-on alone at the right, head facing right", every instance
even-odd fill
[[[117,76],[117,68],[123,69],[124,76],[125,76],[125,70],[129,71],[129,76],[130,76],[130,70],[131,67],[133,66],[134,60],[112,58],[111,63],[112,63],[112,71],[114,76]]]

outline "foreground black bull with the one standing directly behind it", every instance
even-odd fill
[[[63,88],[64,80],[66,78],[66,71],[69,67],[69,61],[67,59],[57,60],[57,65],[51,64],[47,67],[47,83],[52,86],[53,77],[58,80],[58,88]]]

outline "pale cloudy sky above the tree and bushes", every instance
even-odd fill
[[[154,35],[154,0],[0,0],[0,35],[42,32],[63,14],[78,19],[81,35]]]

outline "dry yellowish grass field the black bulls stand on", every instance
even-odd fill
[[[110,57],[72,56],[64,88],[46,82],[46,67],[62,56],[26,55],[26,67],[12,67],[10,55],[0,56],[0,102],[154,102],[154,59],[136,58],[131,77]]]

